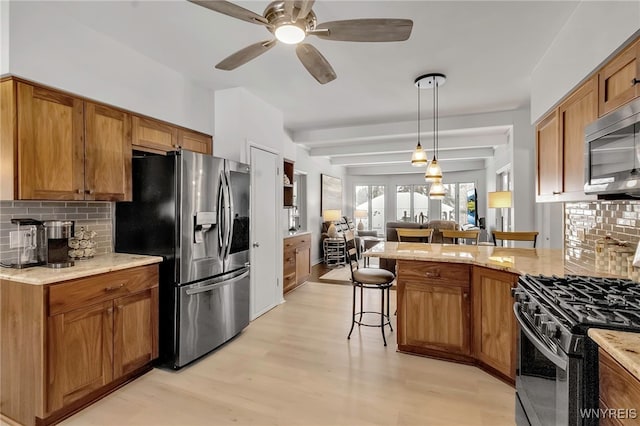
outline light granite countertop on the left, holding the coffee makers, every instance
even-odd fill
[[[53,269],[46,266],[25,269],[0,268],[0,280],[33,285],[52,284],[160,262],[162,257],[159,256],[127,253],[100,254],[93,259],[77,260],[75,265],[69,268]]]

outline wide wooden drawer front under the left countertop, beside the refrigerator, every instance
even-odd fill
[[[49,315],[68,312],[158,285],[158,266],[139,266],[49,287]]]

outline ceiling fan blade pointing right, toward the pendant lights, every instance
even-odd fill
[[[411,19],[349,19],[319,24],[316,30],[329,32],[309,34],[337,41],[404,41],[411,35],[412,28]]]

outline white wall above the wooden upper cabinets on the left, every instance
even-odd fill
[[[3,73],[213,134],[212,90],[66,16],[56,2],[12,1],[7,30],[8,3],[0,1]]]

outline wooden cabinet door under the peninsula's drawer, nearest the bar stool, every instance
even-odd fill
[[[469,354],[468,288],[414,281],[403,284],[398,344]]]

